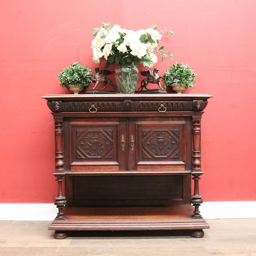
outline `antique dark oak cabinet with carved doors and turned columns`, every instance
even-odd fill
[[[43,96],[55,124],[55,238],[68,230],[164,229],[203,237],[200,122],[210,97]]]

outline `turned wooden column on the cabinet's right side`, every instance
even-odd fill
[[[191,196],[191,203],[195,207],[193,218],[201,217],[199,206],[203,199],[199,194],[199,176],[203,174],[201,170],[201,116],[193,116],[192,119],[192,136],[193,136],[193,152],[192,152],[192,179],[194,180],[194,194]]]

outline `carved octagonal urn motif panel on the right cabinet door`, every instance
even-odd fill
[[[179,138],[174,131],[152,130],[143,134],[144,158],[178,158]]]

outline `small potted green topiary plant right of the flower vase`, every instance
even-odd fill
[[[165,70],[162,77],[165,88],[171,86],[177,93],[181,93],[186,88],[194,90],[194,78],[197,74],[193,71],[188,64],[183,65],[183,63],[176,62],[176,65],[170,65],[169,70]]]

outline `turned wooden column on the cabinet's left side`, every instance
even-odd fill
[[[57,214],[57,219],[63,219],[66,218],[63,214],[63,207],[67,203],[66,197],[63,196],[62,193],[62,181],[64,180],[62,177],[64,177],[64,155],[63,155],[63,119],[58,119],[54,120],[55,124],[55,172],[54,176],[57,177],[56,181],[58,182],[58,196],[55,197],[54,204],[58,208],[59,212]]]

